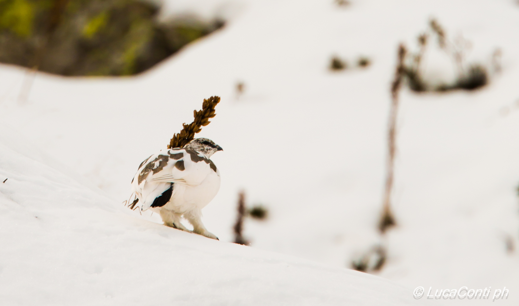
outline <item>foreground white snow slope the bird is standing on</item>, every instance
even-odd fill
[[[134,218],[0,133],[2,305],[410,305],[380,277]],[[31,157],[35,156],[33,159]]]

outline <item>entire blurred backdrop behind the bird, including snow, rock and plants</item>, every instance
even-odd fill
[[[221,96],[221,241],[516,303],[517,29],[515,0],[1,0],[0,122],[160,222],[130,181]]]

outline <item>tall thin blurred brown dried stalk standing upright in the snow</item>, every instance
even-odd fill
[[[387,173],[386,173],[386,190],[384,192],[384,206],[382,217],[379,223],[381,232],[385,232],[387,228],[396,224],[391,212],[391,193],[393,190],[394,180],[394,157],[397,151],[397,118],[398,118],[398,94],[402,87],[402,81],[405,76],[404,58],[406,49],[403,44],[398,50],[398,63],[395,71],[394,80],[391,84],[391,110],[389,113],[389,131],[388,131],[388,157],[387,157]]]

